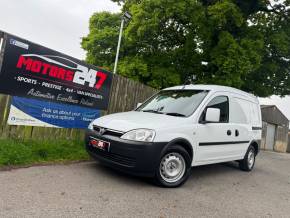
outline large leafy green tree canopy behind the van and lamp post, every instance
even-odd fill
[[[259,96],[290,94],[290,1],[114,0],[133,15],[118,73],[155,88],[220,84]],[[96,13],[87,61],[113,69],[120,14]]]

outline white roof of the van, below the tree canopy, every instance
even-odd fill
[[[179,90],[179,89],[232,92],[232,93],[236,93],[236,94],[239,94],[239,95],[247,96],[247,97],[251,98],[252,100],[254,100],[255,102],[258,102],[258,99],[253,94],[250,94],[250,93],[247,93],[247,92],[244,92],[242,90],[239,90],[239,89],[236,89],[236,88],[232,88],[232,87],[229,87],[229,86],[197,84],[197,85],[174,86],[174,87],[165,88],[163,90]]]

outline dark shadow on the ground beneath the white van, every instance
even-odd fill
[[[119,184],[123,184],[126,186],[138,187],[145,185],[152,187],[154,185],[152,178],[139,177],[127,174],[122,171],[110,168],[99,162],[93,162],[88,167],[96,173],[97,177],[100,178],[101,176],[109,178],[110,180],[118,181]],[[196,166],[191,169],[191,175],[188,178],[187,184],[194,184],[196,182],[196,179],[198,179],[199,182],[202,182],[217,176],[222,177],[227,174],[236,175],[237,172],[240,172],[237,162]]]

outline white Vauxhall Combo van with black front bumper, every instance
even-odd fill
[[[194,166],[237,161],[251,171],[261,140],[257,98],[215,85],[166,88],[133,111],[94,120],[88,153],[112,168],[182,185]]]

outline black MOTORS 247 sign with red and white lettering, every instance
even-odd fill
[[[112,74],[5,34],[0,92],[106,110]]]

